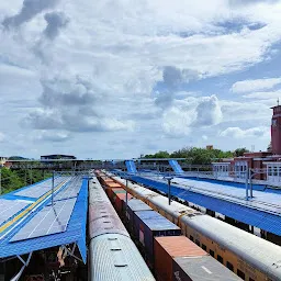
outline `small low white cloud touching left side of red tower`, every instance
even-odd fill
[[[228,127],[220,133],[220,136],[234,138],[250,138],[250,137],[267,137],[269,135],[269,127],[252,127],[243,130],[240,127]]]

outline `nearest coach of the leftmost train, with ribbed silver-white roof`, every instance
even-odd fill
[[[90,244],[90,280],[155,281],[130,237],[101,235]]]

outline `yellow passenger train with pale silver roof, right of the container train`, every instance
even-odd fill
[[[102,173],[100,175],[103,178]],[[135,198],[177,224],[182,233],[247,281],[281,280],[281,247],[139,184],[106,173]],[[127,187],[126,187],[127,186]]]

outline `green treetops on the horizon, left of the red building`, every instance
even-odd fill
[[[171,154],[168,151],[158,151],[156,154],[145,155],[144,158],[186,158],[186,162],[193,165],[210,165],[212,161],[216,161],[222,158],[231,158],[243,156],[248,150],[244,148],[237,148],[234,151],[223,151],[221,149],[206,149],[199,147],[184,147],[176,150]]]

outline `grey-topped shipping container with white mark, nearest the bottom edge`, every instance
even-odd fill
[[[172,260],[172,281],[240,281],[211,256],[180,257]]]

